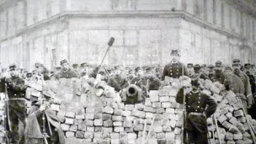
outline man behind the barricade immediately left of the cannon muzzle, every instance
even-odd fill
[[[109,78],[108,85],[115,88],[115,91],[120,92],[121,89],[128,86],[128,80],[121,75],[121,67],[115,67],[115,76]]]

